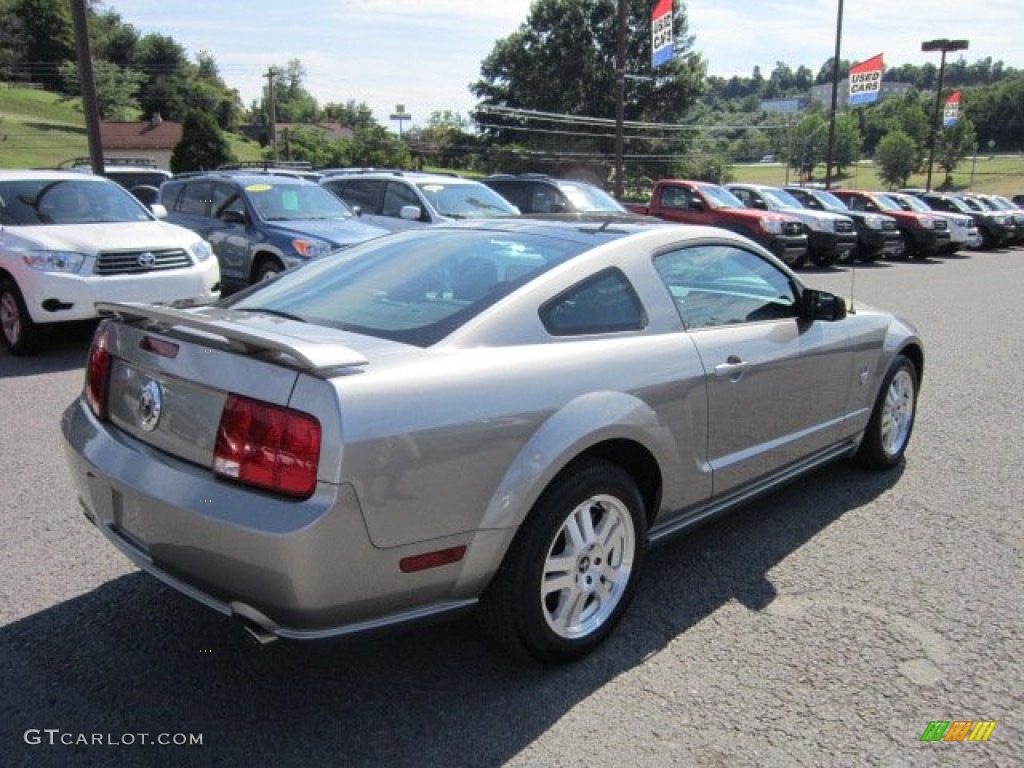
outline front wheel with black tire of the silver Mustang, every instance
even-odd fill
[[[857,451],[857,463],[889,469],[903,460],[918,412],[918,369],[905,355],[893,360]],[[895,431],[894,431],[895,430]]]

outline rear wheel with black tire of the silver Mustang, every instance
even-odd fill
[[[566,531],[579,534],[580,522],[585,530],[573,543]],[[626,612],[646,542],[643,500],[630,475],[604,461],[579,462],[516,534],[480,599],[483,629],[516,656],[542,663],[589,653]]]

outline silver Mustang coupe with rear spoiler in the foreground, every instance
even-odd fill
[[[477,607],[580,656],[651,542],[901,462],[924,371],[906,323],[662,223],[416,229],[216,305],[100,308],[62,418],[85,515],[264,641]]]

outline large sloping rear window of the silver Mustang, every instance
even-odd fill
[[[429,346],[587,247],[485,229],[398,232],[309,262],[224,304]]]

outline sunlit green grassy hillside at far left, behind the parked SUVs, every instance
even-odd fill
[[[54,168],[89,155],[79,99],[61,101],[49,91],[8,88],[0,83],[0,168]],[[228,135],[239,160],[259,160],[254,141]]]

